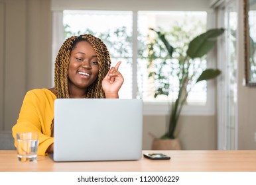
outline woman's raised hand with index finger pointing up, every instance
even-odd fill
[[[121,61],[117,62],[115,67],[111,67],[102,81],[102,88],[106,98],[118,98],[118,91],[123,85],[123,75],[118,71]]]

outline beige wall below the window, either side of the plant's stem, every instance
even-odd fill
[[[166,116],[144,116],[143,149],[151,149],[154,137],[166,130]],[[217,149],[216,116],[180,116],[178,139],[185,150]]]

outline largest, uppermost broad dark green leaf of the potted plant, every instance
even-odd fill
[[[224,28],[212,29],[196,36],[188,45],[187,55],[192,59],[207,54],[216,44],[216,38],[224,32]]]

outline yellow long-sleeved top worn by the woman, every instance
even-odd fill
[[[16,133],[38,132],[38,155],[46,155],[46,149],[53,143],[50,137],[50,125],[54,116],[54,100],[56,99],[48,89],[34,89],[28,91],[21,106],[17,124],[13,126],[13,137]],[[16,141],[15,141],[15,147]]]

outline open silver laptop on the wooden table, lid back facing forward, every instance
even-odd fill
[[[142,131],[142,100],[56,99],[53,160],[139,160]]]

